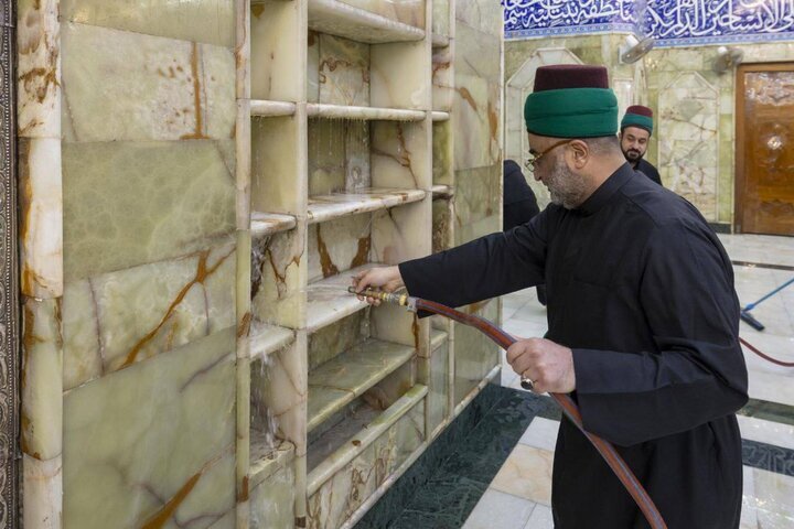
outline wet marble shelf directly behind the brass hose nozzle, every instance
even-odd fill
[[[348,293],[347,287],[351,285],[352,276],[379,266],[382,264],[367,263],[309,283],[307,287],[307,332],[313,333],[354,312],[366,309],[367,303],[358,301],[355,295]]]

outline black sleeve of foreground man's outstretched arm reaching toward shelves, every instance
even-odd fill
[[[547,212],[509,231],[400,263],[408,293],[461,306],[543,283],[549,236]]]

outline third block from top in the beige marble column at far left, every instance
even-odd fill
[[[21,447],[31,457],[50,461],[62,450],[61,300],[25,299],[22,327]]]

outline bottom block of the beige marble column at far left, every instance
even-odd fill
[[[24,508],[22,523],[28,529],[63,528],[63,468],[58,454],[41,461],[22,454]]]

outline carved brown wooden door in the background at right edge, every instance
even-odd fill
[[[794,235],[794,63],[737,76],[736,231]]]

